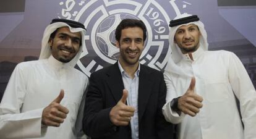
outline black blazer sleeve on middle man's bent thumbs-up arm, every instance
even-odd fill
[[[90,84],[86,97],[83,131],[90,137],[105,137],[116,130],[109,119],[109,112],[112,107],[103,107],[103,95],[98,88],[99,80],[96,80],[95,74],[90,77]]]

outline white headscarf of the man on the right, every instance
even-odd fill
[[[190,14],[184,13],[181,15],[177,15],[177,17],[174,18],[174,20],[177,19],[182,19],[184,17],[189,17],[192,16]],[[208,50],[208,43],[207,43],[207,32],[205,31],[204,25],[200,20],[195,21],[195,22],[189,22],[189,23],[184,23],[182,25],[190,25],[190,24],[195,24],[200,30],[200,38],[199,38],[199,47],[202,48],[204,51]],[[193,75],[189,75],[188,72],[186,72],[186,69],[182,69],[177,65],[179,61],[182,59],[182,52],[179,46],[177,46],[176,43],[174,43],[174,35],[179,27],[182,25],[177,25],[175,27],[171,27],[169,30],[169,45],[171,46],[171,56],[168,59],[168,63],[164,69],[164,72],[171,72],[173,74],[178,74],[178,75],[185,75],[192,77]]]

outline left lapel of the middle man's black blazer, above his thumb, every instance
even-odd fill
[[[107,73],[108,79],[107,84],[111,90],[114,99],[116,99],[116,103],[122,98],[122,90],[124,89],[124,83],[122,82],[122,75],[119,70],[117,62],[114,65],[109,67],[109,71]]]

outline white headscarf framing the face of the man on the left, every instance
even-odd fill
[[[81,33],[81,40],[82,44],[79,48],[79,52],[75,55],[75,57],[68,62],[70,66],[74,67],[75,64],[77,64],[77,61],[80,59],[80,55],[82,53],[83,47],[85,47],[85,41],[84,41],[84,36],[85,36],[85,29],[83,28],[73,28],[67,25],[67,23],[64,22],[56,22],[56,23],[51,23],[45,28],[45,32],[43,33],[43,39],[42,39],[42,48],[41,48],[41,53],[39,56],[39,59],[48,59],[49,56],[51,56],[51,48],[48,44],[49,37],[51,33],[53,33],[55,30],[61,27],[69,27],[70,32],[75,33],[75,32],[80,32]]]

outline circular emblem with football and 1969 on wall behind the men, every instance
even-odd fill
[[[85,25],[85,48],[80,56],[80,70],[88,77],[92,72],[114,64],[119,57],[114,32],[122,19],[139,19],[147,27],[140,64],[163,70],[171,51],[168,42],[169,21],[181,14],[175,0],[66,0],[59,18],[72,19]]]

